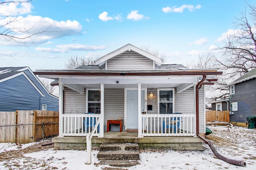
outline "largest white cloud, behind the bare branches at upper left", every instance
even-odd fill
[[[41,16],[28,15],[26,17],[18,16],[15,18],[5,18],[0,20],[0,25],[4,25],[10,19],[15,20],[11,24],[7,24],[5,29],[12,30],[16,37],[24,38],[28,36],[26,33],[29,30],[29,35],[36,34],[38,32],[44,32],[43,34],[36,34],[32,38],[25,40],[18,40],[19,42],[26,42],[28,45],[30,43],[40,44],[46,43],[52,38],[61,38],[64,36],[78,35],[82,31],[82,26],[76,20],[70,21],[56,21],[50,18],[42,18]],[[14,45],[13,41],[6,41],[2,36],[0,37],[0,44]]]

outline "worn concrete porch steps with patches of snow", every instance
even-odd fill
[[[109,143],[101,144],[97,155],[99,164],[110,166],[130,167],[138,164],[140,159],[138,143]]]

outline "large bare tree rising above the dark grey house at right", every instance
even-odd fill
[[[249,18],[246,11],[242,12],[234,23],[236,30],[227,32],[227,41],[219,48],[224,52],[223,55],[199,56],[198,61],[187,66],[198,69],[218,68],[223,71],[214,85],[206,86],[206,90],[212,93],[207,96],[207,101],[224,99],[229,95],[229,83],[256,68],[256,7],[248,6]]]

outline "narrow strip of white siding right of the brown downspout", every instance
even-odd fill
[[[205,99],[204,99],[204,85],[199,90],[199,133],[205,133]]]

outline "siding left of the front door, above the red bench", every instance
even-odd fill
[[[104,89],[104,129],[107,120],[117,120],[118,117],[124,121],[124,89]]]

